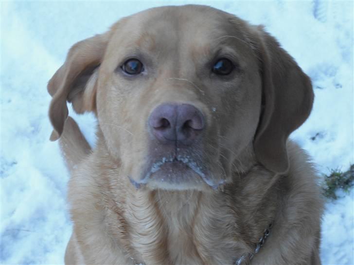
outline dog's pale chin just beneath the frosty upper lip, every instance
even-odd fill
[[[155,164],[140,181],[130,178],[136,188],[151,190],[200,190],[211,191],[217,189],[222,183],[213,183],[204,172],[195,164],[181,161],[169,161]]]

